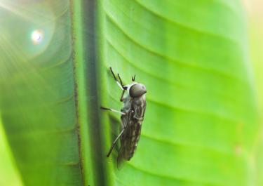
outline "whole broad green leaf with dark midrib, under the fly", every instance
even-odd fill
[[[254,185],[259,124],[239,1],[0,8],[1,117],[26,186]],[[99,109],[121,108],[109,67],[147,86],[137,152],[121,171],[117,150],[105,157],[119,116]]]

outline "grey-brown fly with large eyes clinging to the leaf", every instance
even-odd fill
[[[119,167],[123,161],[129,161],[135,153],[137,143],[140,139],[142,121],[144,120],[144,112],[146,109],[145,93],[147,93],[147,91],[143,84],[135,82],[135,76],[132,77],[131,84],[123,86],[120,75],[118,74],[118,81],[114,72],[112,71],[112,67],[109,69],[110,72],[112,72],[112,76],[114,77],[117,85],[122,90],[120,101],[123,102],[123,107],[121,112],[117,111],[116,109],[110,109],[106,107],[101,107],[101,109],[121,114],[120,133],[112,143],[112,147],[109,149],[109,153],[107,154],[107,157],[109,157],[117,141],[119,138],[121,138],[121,147],[119,149],[117,159]],[[128,94],[124,96],[126,91]]]

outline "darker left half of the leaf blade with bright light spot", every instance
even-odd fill
[[[1,117],[25,185],[83,185],[69,1],[1,1]]]

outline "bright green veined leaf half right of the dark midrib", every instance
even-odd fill
[[[109,0],[104,13],[104,70],[147,86],[137,152],[116,185],[253,185],[259,124],[241,2]]]

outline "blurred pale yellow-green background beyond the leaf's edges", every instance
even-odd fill
[[[250,35],[250,54],[252,64],[255,72],[255,81],[257,84],[257,94],[260,105],[260,116],[262,117],[263,112],[263,3],[260,0],[247,0],[244,1],[245,8],[247,9],[248,19],[248,32]],[[262,118],[261,118],[262,121]],[[259,142],[263,144],[262,136],[260,136]],[[262,145],[263,148],[263,145]],[[262,155],[260,151],[259,156]],[[261,168],[263,166],[259,166]],[[261,171],[262,172],[262,171]],[[262,174],[263,175],[263,174]],[[263,180],[263,178],[262,178]],[[263,182],[261,182],[263,185]],[[0,121],[0,186],[20,186],[20,176],[18,170],[12,160],[8,144],[6,143],[5,134],[1,127]]]

